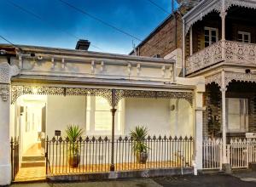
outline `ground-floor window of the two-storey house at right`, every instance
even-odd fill
[[[247,132],[248,129],[248,99],[228,98],[227,130],[230,133]]]

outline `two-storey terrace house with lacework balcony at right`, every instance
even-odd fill
[[[256,133],[255,8],[255,0],[202,0],[183,16],[183,75],[206,79],[203,136],[223,139],[223,163],[235,156],[230,141]],[[232,167],[247,167],[240,148],[242,164]]]

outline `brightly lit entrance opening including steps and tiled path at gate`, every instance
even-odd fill
[[[20,169],[15,181],[45,178],[46,104],[46,95],[22,95],[12,106],[14,134],[20,144]]]

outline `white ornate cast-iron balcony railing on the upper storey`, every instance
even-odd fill
[[[222,60],[230,64],[256,65],[256,44],[234,41],[216,42],[186,60],[187,75]]]

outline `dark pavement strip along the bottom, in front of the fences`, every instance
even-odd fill
[[[256,173],[241,171],[228,174],[203,174],[159,178],[130,178],[81,183],[12,184],[11,187],[255,187]]]

